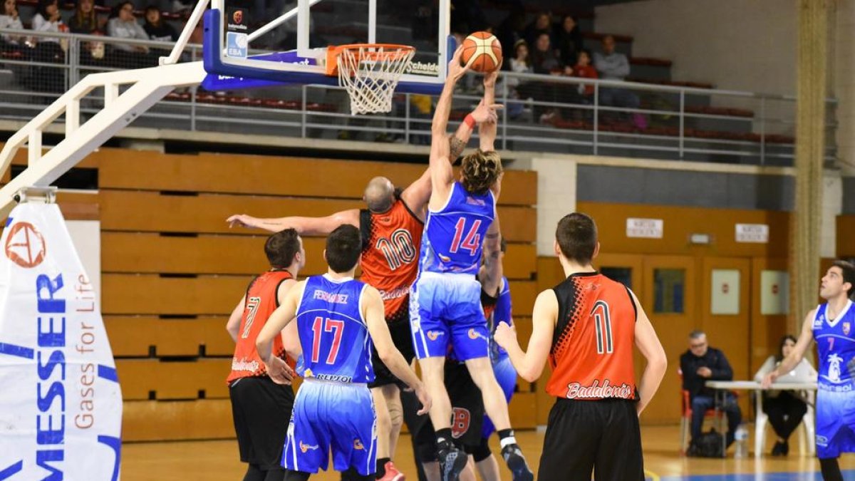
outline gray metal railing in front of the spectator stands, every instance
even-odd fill
[[[0,56],[0,118],[27,120],[86,74],[155,66],[171,43],[0,29],[23,36]],[[30,45],[24,45],[24,41]],[[103,55],[101,55],[103,53]],[[191,45],[184,61],[200,60]],[[475,76],[461,80],[452,121],[480,100]],[[587,87],[587,91],[586,91]],[[500,76],[498,146],[622,157],[759,165],[792,165],[795,98],[696,86],[511,74]],[[618,100],[609,102],[609,99]],[[135,125],[427,144],[435,98],[398,95],[392,112],[351,116],[343,89],[283,86],[236,92],[174,92]],[[94,114],[103,92],[81,112]],[[828,101],[826,161],[833,162],[834,100]],[[454,124],[455,122],[451,122]]]

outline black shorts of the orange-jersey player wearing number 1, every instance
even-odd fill
[[[539,481],[644,481],[635,402],[558,399],[549,413]]]

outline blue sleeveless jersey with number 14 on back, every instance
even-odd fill
[[[496,199],[492,192],[467,193],[454,182],[448,202],[439,211],[428,209],[422,235],[420,272],[478,272],[484,236],[496,217]]]

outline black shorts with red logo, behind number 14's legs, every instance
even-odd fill
[[[451,436],[454,443],[467,454],[473,454],[481,445],[481,431],[484,425],[484,400],[481,389],[469,376],[469,369],[463,363],[445,359],[445,389],[451,400]],[[406,413],[406,409],[404,409]],[[419,460],[422,462],[436,459],[436,433],[428,416],[414,421],[416,429],[410,425],[410,431],[416,438]]]

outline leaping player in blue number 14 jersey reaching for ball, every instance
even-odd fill
[[[422,235],[419,277],[410,291],[410,328],[422,378],[433,399],[430,419],[442,478],[457,480],[467,463],[467,456],[452,442],[451,401],[443,383],[445,354],[451,345],[481,389],[485,411],[498,429],[502,455],[515,481],[531,480],[534,476],[510,429],[508,402],[492,372],[489,330],[481,311],[481,284],[475,280],[484,242],[498,243],[498,225],[492,222],[502,175],[502,160],[493,149],[496,124],[479,126],[481,148],[463,157],[459,181],[451,168],[445,134],[455,83],[468,69],[460,65],[462,52],[457,49],[451,59],[433,114],[432,192]],[[494,102],[497,72],[484,77],[486,105]]]

